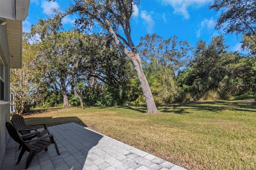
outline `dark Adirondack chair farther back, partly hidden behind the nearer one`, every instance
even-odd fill
[[[12,116],[11,121],[12,121],[12,125],[14,125],[14,127],[16,127],[19,130],[20,134],[22,134],[22,135],[30,134],[30,135],[26,135],[26,137],[22,138],[24,141],[31,140],[32,138],[35,138],[38,136],[38,133],[31,133],[33,130],[35,132],[38,131],[38,129],[35,128],[35,126],[44,126],[44,130],[40,131],[39,137],[44,136],[46,134],[50,134],[50,132],[46,126],[46,123],[35,124],[35,125],[26,125],[26,123],[24,121],[24,117],[22,117],[18,114],[14,114]],[[20,149],[20,147],[19,147],[19,149]]]

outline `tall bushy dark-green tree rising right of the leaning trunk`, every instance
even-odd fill
[[[179,75],[180,85],[188,85],[195,99],[204,98],[209,91],[227,99],[241,91],[243,79],[234,73],[240,56],[228,52],[227,47],[222,35],[213,37],[209,45],[202,40],[196,44],[190,67]]]

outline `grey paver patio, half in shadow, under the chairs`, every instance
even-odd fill
[[[76,123],[48,127],[57,142],[38,153],[28,170],[185,170],[184,168]],[[19,144],[9,139],[2,170],[25,168],[26,152],[16,165]]]

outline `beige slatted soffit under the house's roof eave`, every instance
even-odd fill
[[[8,20],[7,39],[9,46],[10,68],[20,69],[22,65],[22,21]]]

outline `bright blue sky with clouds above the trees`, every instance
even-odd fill
[[[29,14],[23,22],[23,31],[30,32],[31,24],[36,25],[38,18],[47,18],[51,8],[66,8],[69,0],[30,0]],[[131,21],[131,35],[135,45],[140,37],[156,33],[165,39],[178,36],[178,40],[188,40],[194,46],[200,39],[210,42],[212,36],[224,34],[215,30],[220,12],[209,10],[210,0],[141,0],[140,6],[134,7]],[[75,16],[66,16],[62,20],[66,30],[74,27]],[[226,35],[229,51],[240,49],[241,35]]]

